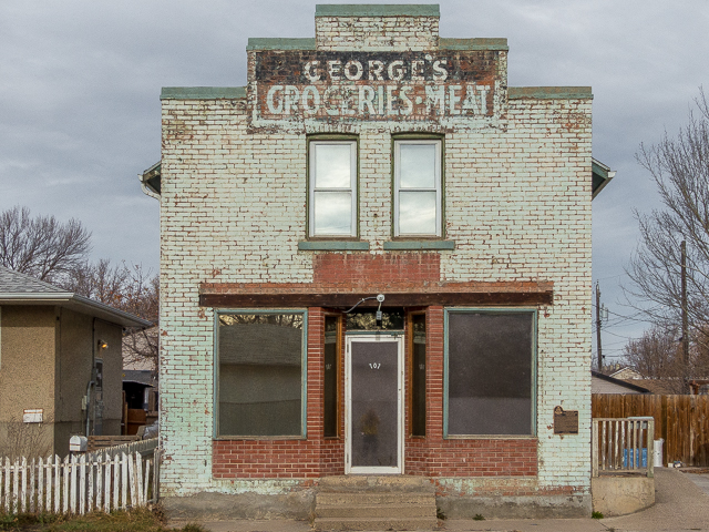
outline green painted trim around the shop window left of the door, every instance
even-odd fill
[[[212,438],[214,440],[307,440],[308,439],[308,309],[307,308],[214,308],[213,317],[213,397]],[[219,436],[219,316],[225,314],[301,314],[300,355],[300,436]]]

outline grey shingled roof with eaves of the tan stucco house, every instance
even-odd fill
[[[130,313],[94,301],[32,276],[13,272],[4,266],[0,266],[0,305],[53,305],[88,314],[123,327],[150,327],[153,325]]]

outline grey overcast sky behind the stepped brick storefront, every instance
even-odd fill
[[[594,156],[617,171],[594,201],[594,280],[633,316],[619,289],[633,209],[657,206],[635,153],[677,132],[709,85],[709,1],[439,4],[441,37],[507,38],[510,85],[593,86]],[[137,174],[160,160],[161,88],[245,85],[247,39],[315,37],[314,14],[301,0],[1,0],[0,209],[78,218],[94,258],[156,272],[158,204]],[[646,327],[614,314],[607,326],[609,356]]]

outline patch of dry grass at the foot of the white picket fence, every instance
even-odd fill
[[[135,509],[112,513],[0,514],[0,530],[32,532],[206,532],[194,523],[178,531],[167,529],[160,510]]]

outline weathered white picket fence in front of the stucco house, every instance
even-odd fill
[[[143,442],[137,442],[143,443]],[[127,446],[117,446],[127,447]],[[150,447],[150,446],[144,446]],[[80,457],[4,459],[0,508],[6,513],[79,513],[136,508],[158,497],[160,449],[115,448]]]

